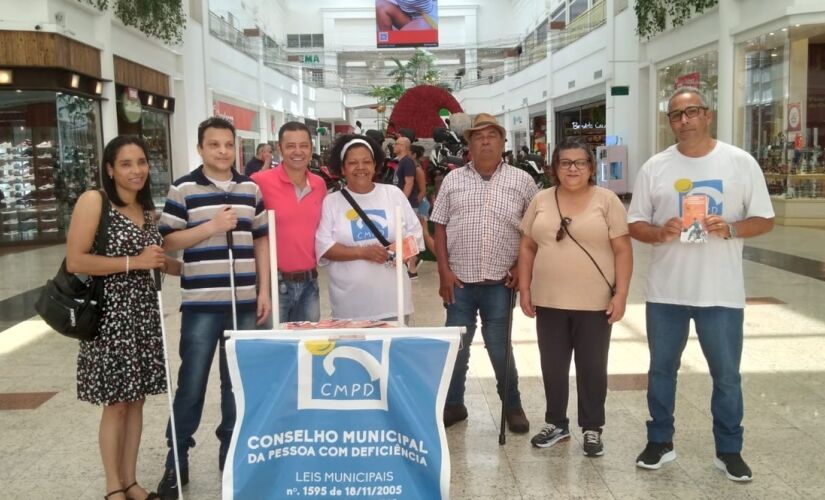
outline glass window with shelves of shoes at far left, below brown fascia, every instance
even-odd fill
[[[99,104],[59,92],[0,93],[0,243],[65,237],[100,179]]]

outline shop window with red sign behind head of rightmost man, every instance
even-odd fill
[[[716,115],[719,68],[717,51],[698,54],[671,64],[659,65],[657,75],[656,151],[663,151],[676,144],[676,137],[667,118],[668,99],[679,87],[698,88],[708,107]],[[710,134],[716,137],[716,120],[710,122]]]

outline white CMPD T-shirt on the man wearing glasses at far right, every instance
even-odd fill
[[[765,178],[747,152],[716,141],[701,158],[691,158],[671,146],[650,158],[639,171],[628,223],[664,225],[681,217],[682,199],[708,197],[708,213],[729,223],[750,217],[773,218]],[[646,299],[662,304],[697,307],[745,307],[741,239],[711,236],[707,244],[672,240],[655,244],[647,273]]]

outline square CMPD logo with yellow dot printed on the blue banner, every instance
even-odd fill
[[[390,340],[302,340],[299,410],[387,410]]]

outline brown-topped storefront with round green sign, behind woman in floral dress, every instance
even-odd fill
[[[115,56],[117,131],[146,142],[152,199],[163,207],[172,183],[172,147],[169,122],[175,100],[169,97],[169,77]]]

